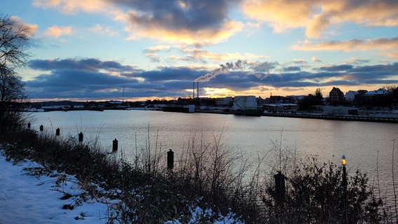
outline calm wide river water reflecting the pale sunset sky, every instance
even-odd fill
[[[377,183],[378,168],[382,196],[393,198],[392,148],[393,144],[398,148],[394,140],[398,139],[397,124],[162,111],[53,111],[34,113],[31,123],[33,129],[43,125],[45,132],[54,134],[59,127],[63,136],[77,138],[83,132],[85,141],[98,140],[107,151],[118,139],[119,148],[131,160],[136,148],[140,151],[146,147],[148,135],[151,147],[157,139],[158,147],[164,151],[172,148],[178,154],[186,149],[193,134],[197,139],[203,134],[211,142],[223,133],[227,147],[253,160],[282,139],[283,146],[296,148],[300,155],[317,155],[321,162],[340,164],[345,154],[348,174],[360,169],[369,174],[371,184]],[[271,155],[266,158],[268,162],[273,159]],[[398,179],[398,160],[394,162]]]

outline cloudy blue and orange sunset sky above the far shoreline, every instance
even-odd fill
[[[396,0],[18,0],[29,99],[307,95],[398,85]],[[198,94],[195,92],[195,94]]]

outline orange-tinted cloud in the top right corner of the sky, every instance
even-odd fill
[[[247,0],[242,10],[255,20],[267,22],[275,32],[304,28],[306,36],[319,38],[332,25],[352,22],[364,27],[398,25],[398,1],[390,0]]]

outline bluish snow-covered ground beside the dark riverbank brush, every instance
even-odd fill
[[[8,162],[0,150],[0,223],[107,223],[109,217],[115,217],[116,211],[112,208],[121,203],[119,200],[104,197],[81,200],[78,195],[83,192],[74,176],[46,171],[29,160]],[[73,197],[65,198],[65,195]],[[211,215],[210,209],[192,207],[188,223],[198,223],[200,217]],[[219,216],[214,223],[241,222],[231,213]]]

